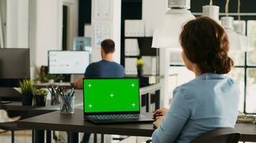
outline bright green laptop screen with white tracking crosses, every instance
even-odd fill
[[[139,112],[138,79],[83,79],[84,112]]]

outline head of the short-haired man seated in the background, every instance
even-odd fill
[[[114,41],[111,39],[105,39],[101,42],[101,56],[114,53]]]

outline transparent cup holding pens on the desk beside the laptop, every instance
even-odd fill
[[[72,114],[74,113],[75,97],[60,97],[60,113]]]

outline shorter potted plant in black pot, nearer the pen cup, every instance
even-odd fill
[[[35,96],[35,102],[37,106],[45,106],[47,90],[45,89],[34,89],[32,92]]]

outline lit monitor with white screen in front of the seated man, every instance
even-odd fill
[[[90,64],[89,51],[48,51],[49,74],[83,74]]]

